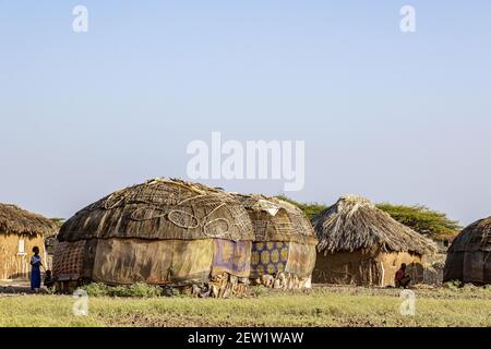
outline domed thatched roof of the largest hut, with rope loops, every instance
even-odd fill
[[[253,240],[242,205],[230,194],[177,179],[154,179],[115,192],[75,214],[58,240],[140,238]]]

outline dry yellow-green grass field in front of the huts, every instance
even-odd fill
[[[400,314],[399,290],[358,287],[229,300],[89,297],[87,316],[73,315],[73,297],[2,293],[0,326],[491,326],[490,288],[414,291],[414,316]]]

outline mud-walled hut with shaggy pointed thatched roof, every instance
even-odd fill
[[[393,286],[403,263],[422,280],[421,260],[436,251],[431,240],[356,195],[339,198],[312,224],[320,241],[313,273],[319,284]]]

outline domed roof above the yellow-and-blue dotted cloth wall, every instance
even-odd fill
[[[248,210],[254,226],[254,241],[291,241],[316,244],[318,239],[307,216],[297,206],[265,195],[236,197]]]

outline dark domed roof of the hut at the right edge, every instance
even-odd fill
[[[452,242],[448,252],[491,252],[491,217],[478,220],[464,229]]]

